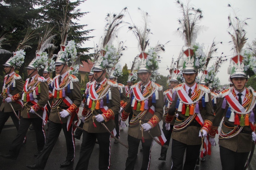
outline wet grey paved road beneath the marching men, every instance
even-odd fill
[[[127,123],[128,124],[128,123]],[[120,140],[124,143],[127,142],[127,132],[128,128],[122,129],[120,132]],[[8,153],[9,147],[12,143],[12,140],[16,136],[17,130],[14,127],[4,128],[2,133],[0,134],[0,152]],[[216,137],[217,140],[217,137]],[[81,148],[82,138],[81,140],[75,139],[75,159],[74,165],[67,168],[60,168],[60,164],[65,161],[66,158],[66,142],[63,132],[60,133],[59,139],[48,159],[45,169],[46,170],[73,170],[75,169],[76,163],[79,158],[79,152]],[[123,170],[125,169],[125,161],[127,158],[127,149],[121,144],[114,144],[114,139],[111,139],[111,169],[113,170]],[[217,142],[216,142],[217,143]],[[170,143],[171,145],[171,143]],[[155,144],[152,147],[151,152],[151,165],[150,169],[152,170],[169,170],[171,168],[171,149],[167,152],[167,160],[160,161],[158,158],[160,157],[160,146]],[[169,147],[170,148],[170,147]],[[4,159],[0,157],[0,170],[27,170],[26,164],[34,163],[34,153],[37,152],[37,144],[35,140],[35,132],[28,131],[27,133],[27,143],[22,146],[20,154],[17,160]],[[98,154],[99,154],[99,146],[96,144],[94,147],[94,152],[91,155],[89,169],[95,170],[98,169]],[[138,159],[135,165],[135,170],[139,170],[142,162],[142,153],[138,152]],[[206,161],[204,163],[200,163],[199,166],[196,167],[196,170],[220,170],[221,168],[221,160],[219,158],[219,147],[212,147],[212,155],[207,155]]]

